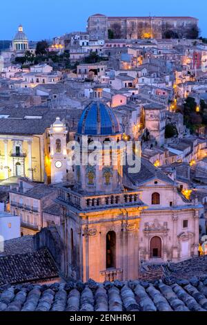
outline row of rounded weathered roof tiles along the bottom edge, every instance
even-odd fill
[[[0,311],[206,311],[207,278],[0,288]]]

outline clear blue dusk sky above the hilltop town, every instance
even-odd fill
[[[142,4],[141,4],[142,2]],[[193,16],[207,37],[206,0],[1,0],[0,39],[12,39],[19,24],[30,40],[86,30],[88,16]]]

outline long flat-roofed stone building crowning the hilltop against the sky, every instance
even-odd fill
[[[88,18],[92,39],[189,38],[197,37],[198,19],[194,17],[107,17],[95,14]]]

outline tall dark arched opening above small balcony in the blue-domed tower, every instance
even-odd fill
[[[116,267],[116,234],[108,232],[106,234],[106,268]]]

